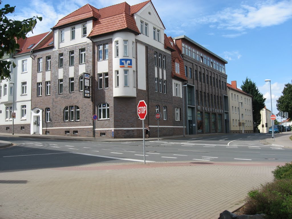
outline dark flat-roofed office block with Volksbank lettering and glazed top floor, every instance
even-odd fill
[[[187,78],[187,134],[228,133],[227,61],[187,36],[173,39],[184,60]]]

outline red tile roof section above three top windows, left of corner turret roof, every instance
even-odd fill
[[[64,18],[60,19],[53,28],[67,25],[76,21],[85,20],[88,18],[95,18],[95,19],[100,18],[100,13],[98,9],[91,6],[90,4],[86,4],[83,7],[65,16]]]

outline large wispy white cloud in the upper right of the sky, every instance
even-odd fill
[[[243,31],[257,27],[268,27],[284,23],[292,17],[292,1],[265,1],[253,6],[225,8],[213,15],[205,16],[201,22],[217,24],[218,29]],[[214,25],[212,25],[214,26]]]

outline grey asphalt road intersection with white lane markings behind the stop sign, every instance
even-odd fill
[[[265,138],[267,134],[259,133],[145,141],[145,159],[146,162],[291,161],[292,149],[264,145],[260,141]],[[144,162],[143,141],[84,142],[11,136],[0,137],[0,140],[15,144],[0,150],[2,171],[96,162]]]

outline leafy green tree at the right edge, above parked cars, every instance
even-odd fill
[[[292,117],[292,80],[285,84],[282,94],[277,100],[277,109],[279,112],[288,112],[288,117]]]

